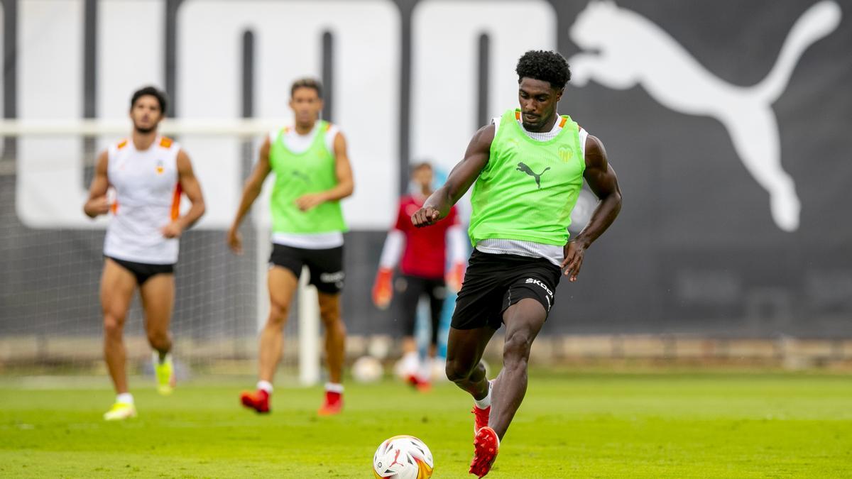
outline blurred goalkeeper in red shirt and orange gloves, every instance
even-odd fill
[[[400,290],[398,301],[402,315],[402,371],[406,379],[419,390],[428,390],[431,384],[432,364],[438,352],[438,326],[444,308],[446,286],[458,291],[464,276],[464,255],[467,251],[465,234],[458,221],[456,208],[450,208],[446,218],[435,228],[414,228],[412,215],[423,206],[432,194],[434,172],[429,163],[420,163],[412,168],[412,194],[400,199],[396,224],[384,242],[376,282],[373,286],[373,303],[381,309],[388,307],[393,296],[391,280],[396,264],[402,264],[402,276],[396,286]],[[447,241],[449,240],[449,241]],[[446,274],[446,251],[449,249],[451,264]],[[429,357],[420,361],[414,326],[417,322],[417,303],[423,295],[429,297],[431,335]]]

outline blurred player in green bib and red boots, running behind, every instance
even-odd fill
[[[295,124],[273,131],[263,141],[260,159],[245,183],[237,215],[227,233],[234,252],[242,251],[239,223],[261,193],[263,180],[275,173],[272,192],[273,251],[269,258],[269,316],[260,338],[257,390],[240,396],[245,407],[269,412],[272,380],[281,359],[282,330],[302,266],[320,300],[325,326],[325,357],[329,382],[320,415],[343,408],[343,359],[346,326],[341,318],[343,288],[343,211],[340,200],[354,190],[346,139],[333,124],[320,120],[322,87],[313,78],[291,86],[290,107]]]

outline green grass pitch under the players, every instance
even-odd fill
[[[349,384],[335,418],[314,414],[317,388],[276,390],[258,416],[233,381],[170,397],[133,384],[139,418],[115,424],[101,420],[106,387],[0,381],[0,476],[371,477],[379,442],[412,434],[435,455],[434,477],[469,477],[470,400],[449,384]],[[537,371],[488,477],[849,476],[849,377]]]

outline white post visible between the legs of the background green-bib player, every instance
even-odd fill
[[[308,285],[308,268],[299,278],[299,382],[320,381],[320,303],[317,290]]]

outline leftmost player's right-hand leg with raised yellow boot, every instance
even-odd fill
[[[157,390],[171,394],[175,387],[175,368],[171,360],[171,311],[175,305],[175,274],[153,274],[139,286],[142,309],[145,311],[145,332],[153,352]]]

